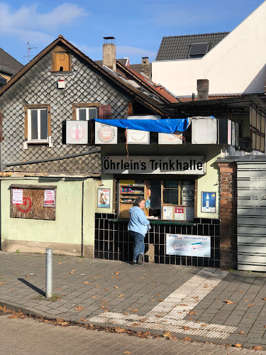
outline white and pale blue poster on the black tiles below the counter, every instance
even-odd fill
[[[211,257],[211,237],[187,234],[166,234],[166,253],[169,255]]]

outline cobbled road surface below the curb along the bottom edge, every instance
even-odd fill
[[[240,349],[202,342],[130,337],[81,327],[60,327],[33,319],[1,315],[1,354],[6,355],[244,355],[266,351]]]

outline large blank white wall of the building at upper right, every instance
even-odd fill
[[[209,79],[209,94],[263,92],[266,79],[266,1],[200,59],[153,62],[153,82],[177,96]]]

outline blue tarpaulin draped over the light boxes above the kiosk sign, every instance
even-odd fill
[[[137,129],[161,133],[184,132],[190,124],[190,119],[94,119],[94,121],[123,129]]]

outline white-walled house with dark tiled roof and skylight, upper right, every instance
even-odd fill
[[[266,1],[230,33],[162,38],[153,81],[177,97],[196,96],[196,80],[209,80],[209,94],[264,94]]]

